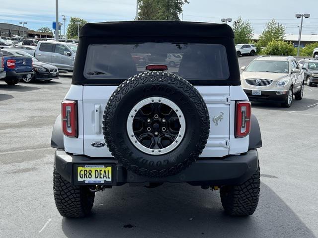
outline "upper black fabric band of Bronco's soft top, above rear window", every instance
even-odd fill
[[[206,37],[234,38],[227,24],[188,21],[120,21],[87,23],[79,37]]]

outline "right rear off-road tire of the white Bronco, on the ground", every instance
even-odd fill
[[[221,202],[225,212],[231,216],[252,215],[257,207],[260,191],[259,166],[247,181],[236,186],[220,188]]]

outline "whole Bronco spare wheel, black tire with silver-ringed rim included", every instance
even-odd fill
[[[106,105],[105,142],[127,170],[147,177],[175,175],[195,162],[210,132],[207,106],[187,80],[144,72],[124,81]]]

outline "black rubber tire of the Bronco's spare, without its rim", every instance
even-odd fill
[[[156,96],[174,102],[186,121],[182,141],[162,155],[146,154],[136,148],[126,127],[133,107]],[[195,162],[207,143],[209,131],[209,113],[200,93],[187,80],[161,71],[140,73],[123,82],[111,95],[103,116],[105,142],[114,158],[127,170],[153,178],[175,175]]]

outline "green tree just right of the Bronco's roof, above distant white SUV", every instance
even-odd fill
[[[254,29],[249,21],[243,20],[239,16],[238,20],[233,22],[232,29],[234,31],[235,44],[246,44],[251,41]]]

